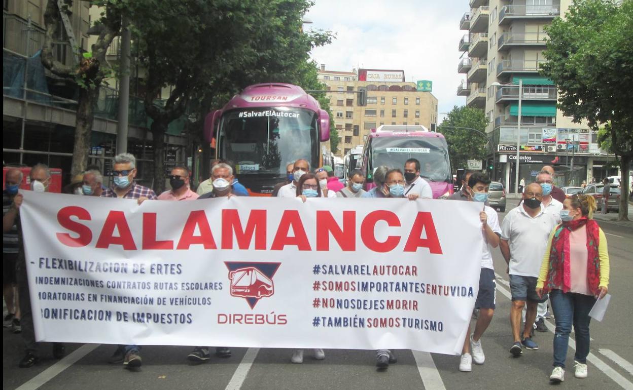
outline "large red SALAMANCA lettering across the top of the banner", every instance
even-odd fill
[[[389,210],[375,210],[363,216],[360,226],[360,243],[357,243],[356,211],[342,212],[342,226],[327,210],[316,210],[315,240],[308,240],[304,222],[298,210],[284,210],[279,224],[275,223],[276,233],[272,242],[267,242],[266,229],[271,228],[266,223],[268,210],[250,210],[246,218],[246,228],[236,209],[222,210],[220,224],[220,248],[248,250],[254,240],[255,250],[284,250],[288,246],[296,246],[298,250],[328,251],[330,250],[330,235],[341,250],[355,251],[357,245],[363,245],[373,252],[390,252],[398,247],[404,236],[406,243],[403,252],[417,252],[419,248],[426,248],[429,253],[441,255],[442,247],[437,235],[436,227],[430,212],[418,212],[412,226],[401,226],[398,215]],[[57,214],[60,227],[66,231],[56,233],[56,238],[68,247],[86,247],[108,249],[111,245],[121,245],[123,250],[187,250],[192,245],[203,245],[206,250],[216,250],[216,240],[209,219],[204,210],[192,210],[182,226],[180,239],[158,240],[156,238],[156,213],[142,213],[142,237],[134,238],[123,211],[112,210],[106,217],[100,231],[92,231],[89,226],[79,221],[91,221],[91,214],[87,209],[78,206],[63,207]],[[401,235],[389,235],[384,241],[379,241],[375,235],[378,223],[392,228],[402,228]],[[68,233],[70,231],[71,233]],[[118,236],[115,236],[115,231]],[[292,233],[291,233],[292,231]],[[397,230],[396,230],[397,231]],[[196,234],[198,232],[199,234]],[[292,234],[292,235],[291,235]],[[94,237],[97,236],[96,241]],[[140,242],[138,242],[140,241]],[[310,243],[316,243],[312,248]]]

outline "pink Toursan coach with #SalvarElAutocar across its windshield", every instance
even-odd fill
[[[330,117],[301,87],[256,84],[235,95],[204,120],[207,142],[215,138],[218,159],[235,163],[251,195],[270,196],[296,159],[317,167],[329,153]]]

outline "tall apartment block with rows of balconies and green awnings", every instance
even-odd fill
[[[467,106],[486,113],[486,132],[496,148],[488,156],[488,166],[494,166],[494,180],[503,181],[507,188],[515,188],[517,135],[519,177],[527,181],[534,180],[545,164],[555,167],[558,186],[617,173],[604,168],[613,156],[599,149],[597,133],[586,123],[573,123],[556,108],[558,90],[538,72],[546,48],[544,28],[564,15],[571,3],[470,0],[470,11],[461,17],[465,34],[459,42],[463,54],[458,73],[465,81],[457,94],[466,97]]]

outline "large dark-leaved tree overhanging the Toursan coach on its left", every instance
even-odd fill
[[[146,4],[131,16],[146,69],[145,107],[153,119],[154,183],[164,186],[167,126],[185,113],[204,115],[219,108],[242,88],[261,82],[287,82],[322,89],[315,46],[330,42],[329,32],[302,32],[306,0],[135,0]],[[147,11],[151,9],[151,11]],[[171,91],[156,104],[163,88]],[[325,96],[315,96],[329,109]],[[200,137],[201,131],[197,134]],[[206,165],[206,164],[203,164]]]

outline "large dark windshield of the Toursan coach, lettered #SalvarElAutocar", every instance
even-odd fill
[[[240,174],[285,176],[297,159],[318,164],[318,116],[294,107],[239,109],[223,114],[220,158],[238,166]]]

